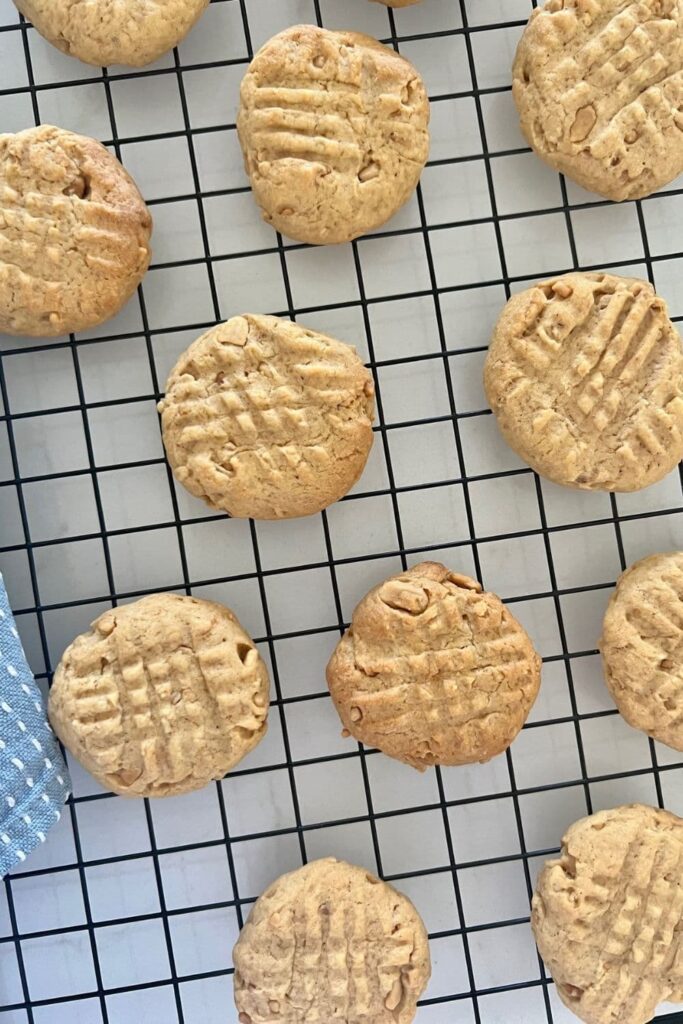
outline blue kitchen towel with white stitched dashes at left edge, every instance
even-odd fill
[[[70,784],[0,574],[0,878],[45,842]]]

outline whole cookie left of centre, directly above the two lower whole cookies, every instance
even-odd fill
[[[237,517],[311,515],[355,483],[374,385],[354,348],[275,316],[234,316],[181,355],[160,403],[176,479]]]

